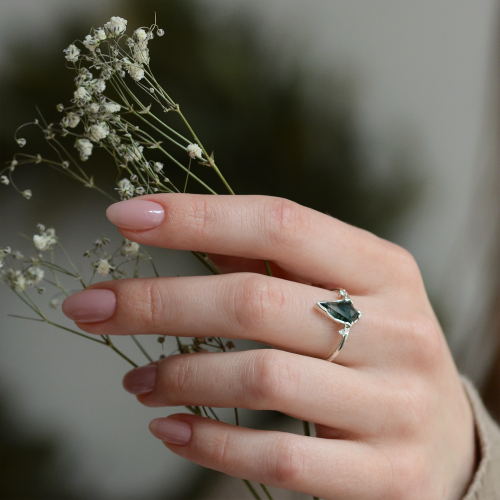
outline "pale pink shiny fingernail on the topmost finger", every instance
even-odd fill
[[[158,227],[165,216],[165,211],[159,203],[127,200],[108,207],[106,216],[113,224],[123,229],[144,231]]]

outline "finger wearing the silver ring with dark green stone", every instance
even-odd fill
[[[340,342],[342,325],[316,310],[322,300],[338,297],[301,283],[237,273],[99,283],[66,299],[63,311],[93,334],[245,338],[326,359]],[[377,356],[380,342],[368,334],[379,329],[373,306],[368,308],[376,300],[353,299],[364,317],[342,351],[342,364],[366,364],[367,350],[371,359],[384,359]]]

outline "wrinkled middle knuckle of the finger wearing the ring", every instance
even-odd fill
[[[260,329],[281,317],[285,293],[276,281],[248,274],[235,283],[234,311],[237,323],[245,330]]]

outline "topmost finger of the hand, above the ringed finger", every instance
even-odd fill
[[[395,269],[410,260],[388,241],[282,198],[147,195],[111,205],[107,216],[138,243],[271,260],[309,283],[356,294],[399,284]]]

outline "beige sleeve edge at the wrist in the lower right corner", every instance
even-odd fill
[[[462,381],[474,414],[480,454],[479,466],[463,500],[499,500],[500,428],[488,414],[472,384],[465,378]]]

